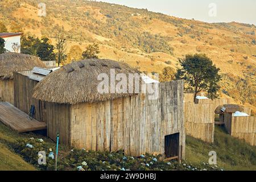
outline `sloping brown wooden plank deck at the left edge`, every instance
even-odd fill
[[[31,120],[9,102],[0,102],[0,121],[18,133],[46,129],[46,122]]]

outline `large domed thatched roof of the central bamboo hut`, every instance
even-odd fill
[[[106,73],[110,79],[110,69],[117,73],[139,73],[128,64],[112,60],[87,59],[65,65],[49,73],[39,82],[33,92],[38,100],[59,104],[77,104],[81,102],[98,102],[130,96],[128,93],[99,93],[97,86],[100,73]],[[116,81],[117,83],[118,81]],[[140,82],[141,84],[141,82]]]

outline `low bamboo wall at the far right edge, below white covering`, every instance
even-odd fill
[[[232,114],[225,114],[225,120],[225,127],[232,137],[256,146],[256,117],[234,117]]]

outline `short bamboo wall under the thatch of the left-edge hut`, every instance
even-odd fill
[[[0,80],[0,101],[9,102],[14,105],[14,81]]]

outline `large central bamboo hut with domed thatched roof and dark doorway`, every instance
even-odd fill
[[[183,81],[159,84],[154,100],[148,93],[99,93],[98,75],[112,77],[112,71],[139,73],[117,61],[89,59],[65,65],[35,86],[33,97],[45,102],[48,137],[59,133],[60,143],[86,150],[184,158]]]

